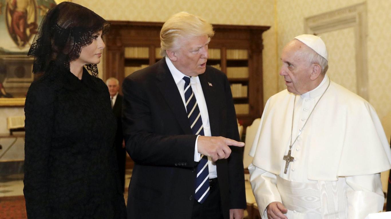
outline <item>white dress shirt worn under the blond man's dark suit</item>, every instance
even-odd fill
[[[182,72],[180,72],[175,66],[172,64],[171,60],[166,56],[166,63],[167,66],[170,69],[170,72],[172,74],[172,77],[174,77],[174,81],[176,85],[178,86],[179,93],[181,94],[183,106],[186,109],[186,102],[185,102],[185,80],[183,80],[183,77],[189,77]],[[204,93],[202,91],[201,83],[199,81],[199,77],[190,77],[190,85],[192,87],[192,90],[195,95],[195,99],[197,100],[197,105],[199,108],[199,111],[201,112],[201,118],[202,123],[204,126],[204,136],[212,136],[210,132],[210,123],[209,123],[209,115],[208,115],[208,108],[206,106]],[[201,154],[198,153],[197,148],[197,142],[198,142],[199,136],[197,136],[197,140],[195,140],[195,147],[194,147],[194,161],[199,162]],[[208,157],[208,169],[209,169],[209,178],[217,178],[217,170],[216,170],[216,162],[212,161],[211,157]]]

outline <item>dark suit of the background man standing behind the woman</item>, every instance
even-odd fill
[[[124,135],[122,133],[122,95],[118,93],[117,99],[113,106],[113,113],[117,118],[117,133],[115,134],[114,146],[117,150],[118,160],[118,171],[122,185],[122,192],[125,188],[125,160],[126,160],[126,149],[122,147]]]

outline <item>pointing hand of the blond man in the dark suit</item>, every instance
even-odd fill
[[[221,136],[199,136],[197,141],[198,153],[212,157],[213,161],[227,159],[230,156],[231,149],[228,145],[243,147],[244,143]]]

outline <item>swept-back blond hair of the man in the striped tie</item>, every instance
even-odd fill
[[[208,36],[212,38],[215,34],[212,24],[206,20],[189,14],[179,12],[169,18],[160,31],[160,55],[166,56],[166,50],[176,50],[179,48],[179,39]]]

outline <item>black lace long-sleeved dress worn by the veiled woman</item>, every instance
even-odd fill
[[[28,218],[126,218],[106,84],[52,65],[25,102]]]

